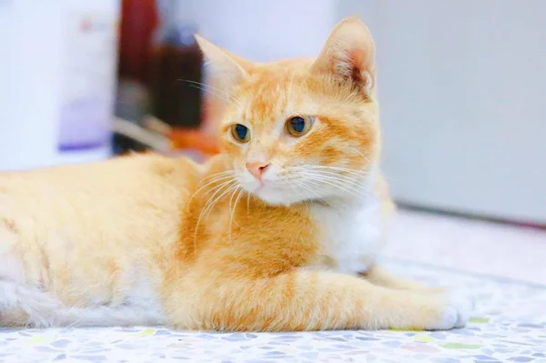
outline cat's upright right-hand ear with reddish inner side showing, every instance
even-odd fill
[[[359,18],[349,17],[332,30],[311,71],[352,82],[369,96],[374,86],[374,58],[368,27]]]

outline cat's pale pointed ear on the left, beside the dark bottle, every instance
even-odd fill
[[[205,55],[215,85],[229,94],[242,78],[248,76],[248,71],[254,64],[237,55],[232,55],[200,35],[195,36],[197,44]]]

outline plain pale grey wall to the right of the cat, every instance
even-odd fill
[[[399,200],[546,224],[546,1],[342,0],[378,45]]]

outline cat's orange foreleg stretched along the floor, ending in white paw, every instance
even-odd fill
[[[466,300],[379,287],[329,271],[297,269],[255,279],[214,275],[166,294],[170,323],[238,331],[436,330],[462,327],[470,314]]]

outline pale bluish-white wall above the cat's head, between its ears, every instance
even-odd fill
[[[257,62],[318,54],[338,12],[335,0],[171,1],[171,22],[196,22],[201,35]]]

